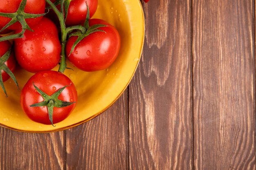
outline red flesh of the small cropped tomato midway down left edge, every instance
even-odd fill
[[[0,42],[0,56],[2,57],[11,47],[11,43],[9,41],[1,41]],[[9,59],[4,62],[4,64],[11,70],[14,71],[16,67],[16,60],[13,52],[11,53]],[[3,70],[1,70],[3,82],[10,78],[10,76]]]

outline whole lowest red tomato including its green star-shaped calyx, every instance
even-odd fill
[[[40,71],[22,88],[20,104],[27,116],[38,123],[56,124],[66,119],[77,102],[73,82],[57,71]]]

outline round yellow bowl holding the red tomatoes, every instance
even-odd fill
[[[0,89],[0,126],[23,132],[54,132],[83,124],[96,117],[124,92],[135,73],[144,43],[144,14],[139,0],[99,0],[93,18],[101,18],[114,25],[121,36],[117,60],[103,71],[87,73],[70,63],[65,75],[74,82],[78,102],[64,121],[52,125],[31,121],[20,107],[20,91],[9,79],[4,82],[8,97]],[[57,68],[54,68],[57,70]],[[33,73],[18,68],[16,75],[20,89]]]

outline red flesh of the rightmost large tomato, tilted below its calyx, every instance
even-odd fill
[[[66,55],[68,60],[83,71],[99,71],[108,68],[117,58],[120,49],[120,35],[114,26],[100,19],[90,19],[89,25],[105,24],[79,42],[70,54],[77,36],[67,40]]]

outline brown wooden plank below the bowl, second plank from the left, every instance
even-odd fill
[[[104,113],[66,130],[67,170],[126,170],[127,91]]]

